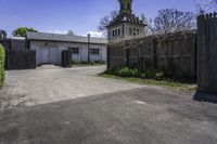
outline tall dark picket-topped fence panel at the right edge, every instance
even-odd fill
[[[217,103],[217,13],[197,17],[197,93],[195,100]]]

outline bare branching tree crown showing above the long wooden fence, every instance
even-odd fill
[[[152,34],[171,34],[196,28],[195,14],[181,12],[175,9],[159,10],[154,21],[149,22],[149,31]]]

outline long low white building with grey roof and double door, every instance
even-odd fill
[[[27,32],[27,44],[36,51],[36,64],[62,64],[62,52],[72,50],[73,62],[87,62],[89,60],[106,61],[106,43],[103,38],[68,36],[48,32]],[[88,47],[89,45],[89,47]],[[90,49],[88,49],[90,48]]]

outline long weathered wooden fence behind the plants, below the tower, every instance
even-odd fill
[[[108,44],[108,69],[136,66],[196,78],[196,32],[150,36]]]

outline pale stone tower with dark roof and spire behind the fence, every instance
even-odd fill
[[[119,13],[107,26],[108,41],[144,36],[145,24],[132,13],[132,0],[118,0]]]

